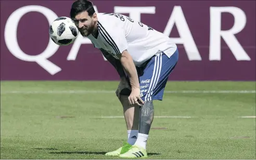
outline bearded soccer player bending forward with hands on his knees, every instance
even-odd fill
[[[162,100],[165,84],[177,64],[175,43],[122,14],[96,13],[92,2],[86,0],[72,4],[70,17],[81,35],[101,50],[120,75],[116,94],[123,106],[128,138],[121,148],[106,155],[147,157],[153,100]]]

